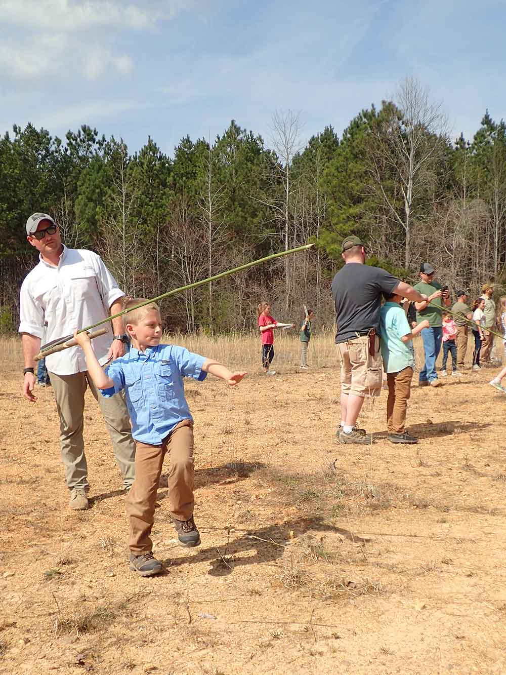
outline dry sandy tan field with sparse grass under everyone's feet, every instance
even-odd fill
[[[177,546],[159,490],[155,553],[166,574],[128,569],[119,471],[94,400],[85,439],[92,508],[67,510],[51,389],[20,394],[18,340],[0,343],[0,672],[506,672],[506,397],[466,371],[415,385],[408,429],[385,439],[386,392],[339,445],[331,336],[308,372],[295,336],[275,377],[259,340],[188,348],[250,375],[237,389],[188,383],[196,424],[196,522]],[[418,343],[417,349],[420,349]]]

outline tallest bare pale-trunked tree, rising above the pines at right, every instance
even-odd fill
[[[384,103],[368,141],[370,187],[404,232],[404,264],[409,267],[415,209],[424,199],[428,204],[433,197],[430,186],[448,144],[447,117],[441,103],[430,102],[428,88],[407,78],[395,103]],[[393,189],[389,179],[395,181]]]

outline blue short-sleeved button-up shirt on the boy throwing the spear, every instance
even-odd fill
[[[101,393],[107,397],[125,389],[132,436],[141,443],[161,445],[175,425],[193,420],[184,396],[183,377],[204,380],[205,360],[172,344],[148,347],[145,352],[131,348],[107,367],[105,372],[114,387],[101,389]]]

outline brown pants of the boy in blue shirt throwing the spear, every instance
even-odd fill
[[[194,508],[193,422],[183,420],[161,445],[137,443],[136,479],[126,499],[130,520],[130,551],[136,556],[152,550],[150,533],[154,522],[154,503],[165,453],[170,453],[169,499],[176,520],[190,520]]]

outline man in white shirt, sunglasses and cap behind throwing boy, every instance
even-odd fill
[[[24,353],[23,395],[35,402],[34,356],[40,340],[52,342],[71,335],[76,328],[92,325],[107,315],[121,312],[121,291],[101,257],[84,249],[66,248],[59,229],[47,213],[34,213],[26,221],[28,242],[39,252],[39,263],[26,275],[20,292]],[[94,350],[102,365],[125,353],[126,336],[121,317],[113,319],[111,333],[94,340]],[[135,475],[135,444],[130,418],[120,394],[105,398],[88,377],[84,354],[71,347],[50,354],[46,366],[55,393],[60,418],[61,458],[70,490],[70,508],[86,509],[88,503],[88,469],[84,454],[84,392],[90,387],[99,403],[113,443],[113,450],[123,475],[123,487],[132,487]]]

